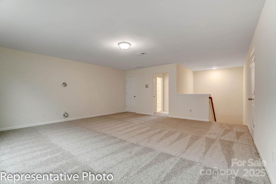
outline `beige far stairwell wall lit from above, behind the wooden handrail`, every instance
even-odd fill
[[[243,123],[243,67],[195,71],[194,93],[211,94],[218,122]]]

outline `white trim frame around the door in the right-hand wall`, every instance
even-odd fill
[[[252,52],[250,54],[250,97],[249,98],[254,98],[254,105],[255,105],[255,89],[254,89],[254,94],[252,93],[252,79],[254,77],[254,88],[255,88],[255,71],[254,71],[254,76],[252,76],[252,62],[254,60],[254,70],[255,70],[255,47],[253,47]],[[252,100],[250,101],[250,115],[249,115],[249,132],[252,135],[252,138],[254,140],[254,132],[255,132],[255,108],[254,108],[254,113],[252,114]]]

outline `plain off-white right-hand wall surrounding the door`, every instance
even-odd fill
[[[244,124],[249,121],[250,54],[255,47],[254,140],[266,161],[271,182],[276,183],[276,0],[266,0],[244,63]],[[274,162],[272,151],[274,150]]]

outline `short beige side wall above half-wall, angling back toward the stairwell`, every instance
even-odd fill
[[[193,93],[193,71],[177,64],[177,94]]]

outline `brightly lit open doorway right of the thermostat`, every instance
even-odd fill
[[[153,75],[154,83],[154,113],[169,111],[169,73]]]

